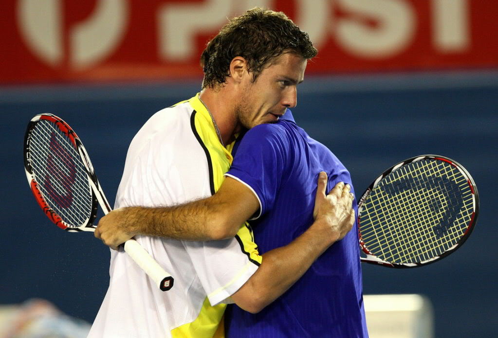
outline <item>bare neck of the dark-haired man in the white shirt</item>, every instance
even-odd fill
[[[224,87],[204,88],[200,97],[213,115],[218,129],[220,129],[223,144],[232,143],[235,139],[234,134],[240,131],[240,126],[234,113],[234,98]]]

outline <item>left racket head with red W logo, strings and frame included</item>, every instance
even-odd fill
[[[53,114],[34,116],[24,136],[24,169],[50,221],[67,231],[94,229],[98,201],[90,183],[95,174],[69,124]]]

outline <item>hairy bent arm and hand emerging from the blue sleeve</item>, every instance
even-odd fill
[[[250,189],[227,177],[218,192],[206,199],[174,207],[112,211],[100,220],[95,236],[113,249],[137,234],[184,240],[231,238],[258,208]]]

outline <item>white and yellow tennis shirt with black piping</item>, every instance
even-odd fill
[[[194,98],[155,113],[126,155],[116,208],[171,206],[209,197],[232,163],[212,119]],[[110,285],[90,338],[213,337],[230,296],[261,263],[252,232],[221,241],[136,240],[175,278],[167,292],[124,251],[111,250]]]

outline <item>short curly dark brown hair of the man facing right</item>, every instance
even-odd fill
[[[258,7],[249,9],[232,18],[202,52],[202,88],[225,83],[236,56],[247,60],[254,81],[273,58],[288,52],[305,59],[318,53],[308,34],[284,13]]]

